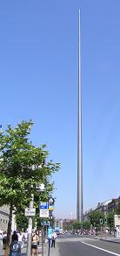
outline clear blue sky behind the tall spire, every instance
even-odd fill
[[[62,168],[56,217],[76,217],[77,25],[81,9],[83,209],[120,195],[119,0],[0,2],[0,122],[32,118]]]

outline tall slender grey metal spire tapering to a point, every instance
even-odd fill
[[[83,221],[82,85],[80,10],[78,23],[78,127],[77,127],[77,220]]]

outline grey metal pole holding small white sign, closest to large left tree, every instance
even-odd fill
[[[33,201],[34,201],[34,195],[31,194],[30,209],[33,209]],[[29,217],[28,244],[27,244],[26,256],[30,256],[30,254],[31,254],[31,234],[32,234],[32,217]]]

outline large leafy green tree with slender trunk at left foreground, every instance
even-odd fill
[[[44,145],[33,146],[29,139],[32,125],[31,120],[22,121],[16,128],[9,125],[6,132],[0,133],[0,205],[10,205],[5,255],[9,255],[13,210],[28,207],[31,193],[39,193],[40,182],[45,184],[47,197],[53,188],[50,176],[59,168],[58,163],[46,162],[49,153]]]

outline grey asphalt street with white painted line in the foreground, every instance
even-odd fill
[[[120,244],[92,238],[57,238],[56,256],[120,255]]]

